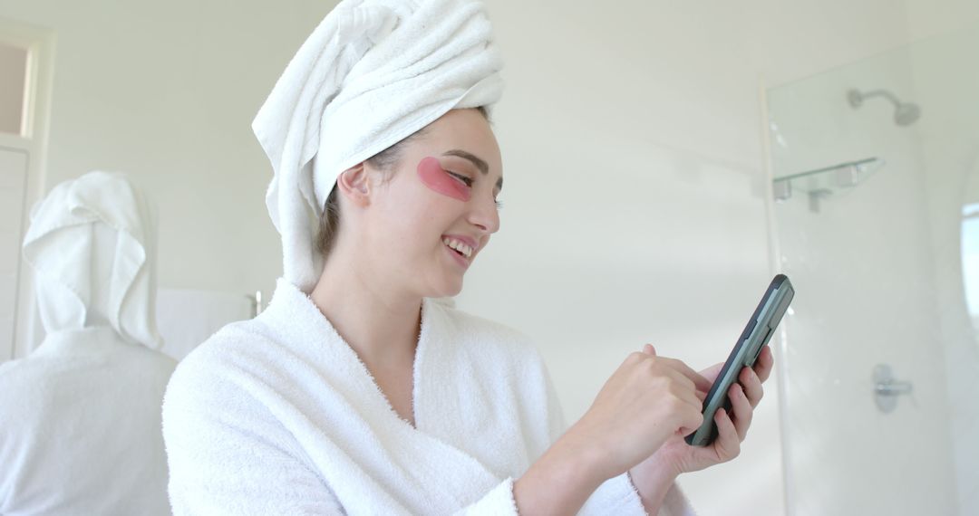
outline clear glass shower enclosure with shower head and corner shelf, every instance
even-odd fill
[[[979,514],[979,30],[772,88],[792,515]],[[968,302],[967,302],[968,300]]]

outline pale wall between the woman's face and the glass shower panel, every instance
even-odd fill
[[[644,342],[722,361],[766,286],[759,77],[909,39],[891,2],[493,2],[502,230],[460,306],[540,347],[577,419]],[[805,295],[803,292],[802,295]],[[734,462],[680,480],[700,514],[782,514],[774,382]]]

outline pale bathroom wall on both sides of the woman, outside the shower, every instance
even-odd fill
[[[268,291],[270,168],[249,124],[332,4],[0,0],[0,17],[58,34],[48,188],[130,172],[161,208],[163,286]],[[536,337],[572,420],[644,342],[693,366],[723,360],[771,273],[760,77],[906,42],[903,5],[489,10],[507,63],[504,229],[460,305]],[[782,512],[773,402],[737,461],[684,479],[700,514]]]

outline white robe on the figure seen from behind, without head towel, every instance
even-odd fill
[[[176,362],[111,326],[0,365],[0,514],[165,516],[161,404]]]

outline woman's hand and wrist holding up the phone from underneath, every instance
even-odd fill
[[[655,350],[648,344],[643,352],[655,355]],[[751,426],[754,409],[762,401],[764,395],[762,383],[769,378],[773,365],[771,350],[765,346],[755,366],[744,367],[741,370],[738,382],[731,385],[727,391],[733,414],[728,414],[723,409],[717,411],[714,422],[718,425],[718,438],[710,446],[691,447],[683,440],[683,436],[689,432],[676,432],[652,456],[632,468],[629,474],[639,494],[644,499],[647,498],[647,493],[649,497],[661,499],[661,492],[665,495],[663,483],[667,481],[672,483],[680,473],[698,471],[736,457],[741,452],[741,442],[744,441],[748,427]],[[723,364],[718,364],[704,369],[701,373],[713,383],[722,367]],[[707,396],[709,385],[708,389],[697,393],[700,400]]]

